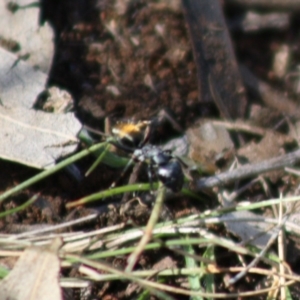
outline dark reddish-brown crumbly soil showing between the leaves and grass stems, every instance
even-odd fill
[[[42,21],[50,21],[56,32],[56,51],[49,85],[58,85],[72,93],[76,101],[76,114],[84,124],[103,130],[105,117],[151,119],[162,109],[170,111],[184,129],[200,117],[218,117],[214,104],[198,100],[196,67],[180,7],[141,0],[129,1],[124,11],[122,5],[116,9],[114,1],[108,0],[43,2]],[[236,8],[227,8],[229,17],[239,12]],[[280,34],[233,33],[239,62],[247,64],[271,84],[276,84],[269,76],[271,49],[281,45],[282,41],[294,42],[296,27],[297,22],[294,21],[289,32]],[[299,60],[297,47],[295,44],[293,48],[295,61]],[[168,130],[159,131],[158,140],[163,140]],[[84,172],[92,162],[92,158],[87,158],[78,167]],[[4,161],[0,162],[0,166],[3,170],[0,174],[1,191],[36,173],[35,170]],[[34,206],[1,221],[1,231],[15,232],[30,224],[61,222],[70,213],[65,203],[107,188],[115,176],[114,171],[102,166],[80,184],[63,171],[55,174],[2,205],[2,209],[9,209],[23,203],[28,196],[40,193],[40,200]],[[251,192],[258,197],[255,190],[249,192],[249,197]],[[179,216],[210,205],[199,207],[190,199],[182,198],[169,205],[169,209]],[[86,215],[94,209],[100,212],[106,210],[102,206],[81,208],[72,218]],[[134,217],[137,223],[143,223],[147,214],[134,211],[130,217]],[[91,226],[115,224],[120,218],[114,212],[105,211]],[[218,234],[226,234],[220,228],[216,230]],[[216,255],[220,265],[233,266],[237,263],[231,253],[224,253],[223,249],[217,249],[217,252],[220,252]],[[174,253],[161,250],[142,257],[140,267],[151,268],[154,257],[157,261],[166,255],[176,259]],[[125,259],[111,263],[121,267]],[[178,260],[179,265],[182,263]],[[222,278],[217,278],[217,281],[218,291],[226,292]],[[170,284],[178,283],[174,280]],[[236,289],[248,290],[249,286],[259,287],[259,278],[254,283],[247,283],[246,278]],[[109,287],[98,284],[94,295],[99,295],[102,290],[102,299],[128,299],[124,294],[126,288],[127,283],[124,282],[111,283]],[[76,291],[69,297],[80,298]]]

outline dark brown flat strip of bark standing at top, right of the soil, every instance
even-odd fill
[[[223,118],[242,118],[246,98],[220,2],[182,1],[195,62],[200,101],[214,101]]]

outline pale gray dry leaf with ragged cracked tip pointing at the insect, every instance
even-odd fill
[[[0,107],[0,157],[36,168],[50,168],[75,151],[81,124],[73,114],[22,107]]]

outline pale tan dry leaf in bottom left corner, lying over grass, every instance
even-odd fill
[[[0,282],[0,300],[61,300],[57,255],[60,246],[61,241],[56,239],[47,249],[25,250],[13,270]]]

